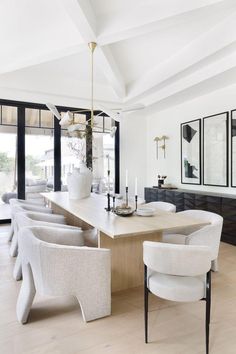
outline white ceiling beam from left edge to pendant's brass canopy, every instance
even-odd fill
[[[85,44],[78,44],[75,46],[64,47],[62,49],[53,50],[52,52],[46,52],[41,55],[35,55],[33,57],[27,57],[24,55],[21,59],[18,58],[16,62],[9,65],[0,65],[0,75],[10,73],[12,71],[21,70],[30,66],[43,64],[53,60],[61,59],[73,54],[77,54],[87,50]]]

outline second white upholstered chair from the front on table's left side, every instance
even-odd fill
[[[47,227],[56,227],[56,228],[61,228],[61,229],[66,229],[66,230],[74,230],[74,231],[81,230],[81,228],[60,223],[60,221],[65,222],[64,219],[60,219],[59,223],[57,223],[57,221],[58,221],[58,217],[57,217],[57,215],[54,215],[54,214],[50,215],[50,214],[35,213],[35,212],[17,213],[15,216],[15,223],[17,226],[17,235],[18,235],[20,229],[22,229],[23,227],[29,227],[29,226],[47,226]],[[93,235],[93,233],[94,233],[93,229],[91,229],[90,233],[89,233],[89,231],[90,230],[83,232],[84,238],[86,238],[86,239],[88,239],[89,237],[95,238],[95,235]],[[21,278],[22,278],[21,256],[20,256],[19,252],[17,254],[16,262],[14,265],[13,278],[15,280],[21,280]]]

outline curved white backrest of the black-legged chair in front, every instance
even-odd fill
[[[207,246],[175,245],[145,241],[143,261],[148,268],[163,274],[197,276],[211,268],[211,252]]]

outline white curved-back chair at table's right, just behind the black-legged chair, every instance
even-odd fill
[[[178,230],[178,233],[165,233],[162,236],[162,241],[165,243],[209,246],[212,260],[211,269],[217,271],[217,258],[223,227],[222,216],[204,210],[185,210],[178,214],[191,217],[192,219],[207,221],[210,222],[210,224],[201,228],[194,227]]]

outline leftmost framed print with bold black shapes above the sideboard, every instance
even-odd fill
[[[201,120],[181,124],[181,183],[201,184]]]

